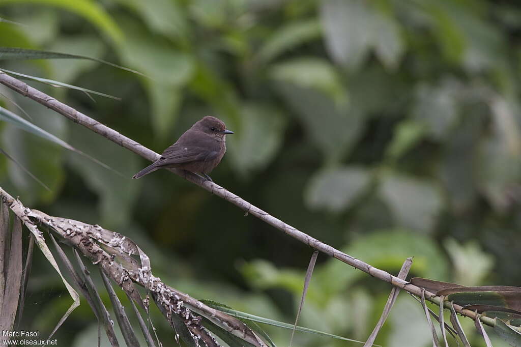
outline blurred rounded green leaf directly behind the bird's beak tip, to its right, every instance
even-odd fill
[[[240,127],[226,141],[233,167],[247,176],[269,165],[282,144],[286,117],[271,105],[245,104]],[[262,143],[262,146],[259,146]]]

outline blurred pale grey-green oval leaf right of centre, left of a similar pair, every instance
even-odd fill
[[[330,168],[309,181],[305,198],[310,208],[341,212],[350,207],[367,188],[370,172],[357,166]]]

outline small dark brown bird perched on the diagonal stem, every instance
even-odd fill
[[[161,157],[145,167],[132,178],[140,178],[161,168],[177,167],[194,173],[201,173],[212,181],[208,173],[212,171],[226,152],[227,130],[222,120],[206,116],[185,131],[176,143],[166,148]]]

